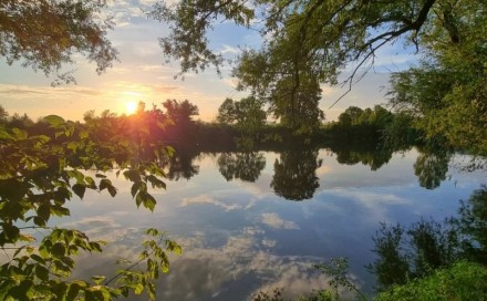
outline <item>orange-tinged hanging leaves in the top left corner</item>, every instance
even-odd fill
[[[113,22],[103,17],[105,7],[104,0],[1,1],[0,55],[9,64],[21,61],[54,75],[53,84],[74,81],[72,72],[61,69],[74,63],[76,53],[95,62],[102,73],[117,59],[106,37]]]

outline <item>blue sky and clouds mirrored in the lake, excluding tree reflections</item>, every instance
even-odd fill
[[[197,175],[155,193],[154,212],[136,209],[122,178],[113,177],[115,198],[86,191],[82,201],[71,203],[69,219],[52,221],[110,242],[101,256],[81,257],[75,276],[112,272],[113,262],[133,258],[144,229],[154,227],[184,248],[158,280],[157,300],[248,300],[273,288],[292,297],[325,288],[327,276],[312,264],[332,257],[349,258],[353,279],[371,292],[374,277],[364,264],[374,259],[372,236],[381,221],[442,220],[486,180],[485,174],[450,168],[438,188],[425,189],[414,174],[415,150],[394,154],[372,172],[360,163],[341,165],[321,149],[319,187],[311,199],[292,201],[270,185],[280,154],[261,154],[266,165],[255,183],[227,180],[218,155],[199,156]]]

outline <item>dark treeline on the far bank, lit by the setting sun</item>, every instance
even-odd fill
[[[188,100],[167,100],[160,106],[153,104],[151,107],[141,102],[132,115],[117,115],[110,111],[96,115],[94,111],[89,111],[82,122],[72,124],[80,128],[99,124],[97,131],[105,134],[97,135],[107,137],[134,138],[143,132],[148,142],[164,143],[186,152],[272,150],[303,144],[332,149],[348,145],[361,150],[397,150],[425,141],[411,117],[380,105],[372,108],[351,106],[336,122],[300,128],[269,122],[263,103],[252,96],[240,101],[225,100],[216,121],[210,123],[196,121],[198,114],[198,107]],[[50,131],[43,118],[34,122],[27,115],[9,116],[1,106],[0,123],[9,128],[25,129],[29,134]]]

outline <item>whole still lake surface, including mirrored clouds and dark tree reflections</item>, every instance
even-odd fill
[[[111,176],[121,188],[116,203],[100,194],[86,195],[82,203],[70,204],[72,217],[63,222],[93,239],[114,242],[102,257],[83,257],[79,274],[104,269],[110,273],[115,268],[107,267],[116,259],[136,252],[142,228],[168,230],[184,246],[184,253],[170,259],[172,271],[157,287],[160,300],[248,300],[252,293],[277,287],[287,288],[291,295],[309,292],[327,287],[328,278],[313,270],[312,263],[330,257],[348,257],[356,283],[366,291],[374,279],[363,266],[374,260],[371,236],[380,221],[407,224],[418,216],[442,220],[455,212],[457,199],[466,199],[479,187],[481,180],[468,174],[445,181],[445,158],[425,157],[432,158],[432,154],[350,149],[331,154],[302,148],[199,155],[178,149],[176,157],[165,163],[172,180],[167,191],[155,193],[153,214],[134,210],[131,189],[124,188],[126,181]],[[352,165],[359,162],[366,166]],[[416,166],[433,172],[416,173]],[[436,180],[426,183],[443,180],[444,185],[423,185],[422,175],[435,175]],[[469,247],[476,252],[470,253],[483,260],[487,243],[485,190],[464,204],[458,219],[460,232],[477,241]],[[416,246],[443,243],[445,238],[434,240],[428,235],[435,227],[418,224],[413,237],[427,243],[417,240],[421,243]],[[435,248],[428,251],[441,249]],[[435,257],[427,262],[435,262],[441,253],[433,251]],[[391,263],[394,256],[398,260],[395,266]],[[412,272],[410,263],[405,268],[401,261],[401,253],[391,258],[383,264],[388,270],[376,270],[386,274],[383,279],[401,279],[403,271]]]

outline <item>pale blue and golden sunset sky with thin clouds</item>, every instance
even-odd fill
[[[185,79],[174,79],[179,71],[177,62],[164,64],[158,45],[158,38],[168,33],[167,24],[146,18],[155,0],[117,0],[107,1],[107,11],[116,23],[108,39],[120,52],[120,62],[115,62],[102,75],[96,74],[95,64],[76,54],[74,69],[76,84],[64,84],[52,87],[53,79],[35,73],[32,69],[22,68],[22,62],[8,65],[0,58],[0,105],[12,115],[28,114],[37,120],[51,114],[66,120],[80,121],[83,114],[94,110],[96,114],[105,110],[117,114],[127,114],[127,104],[145,102],[151,106],[168,98],[188,100],[199,108],[197,118],[211,122],[219,105],[226,97],[239,100],[248,92],[237,92],[236,80],[229,74],[231,65],[222,69],[218,76],[213,69],[204,73],[188,73]],[[211,46],[226,58],[235,58],[239,48],[259,48],[261,39],[255,31],[237,28],[228,22],[217,23],[209,33]],[[333,104],[348,89],[322,86],[320,107],[327,121],[336,120],[349,106],[370,107],[385,104],[388,74],[411,65],[413,56],[400,45],[385,48],[377,53],[373,71],[358,83],[332,108]],[[346,70],[344,71],[346,74]]]

